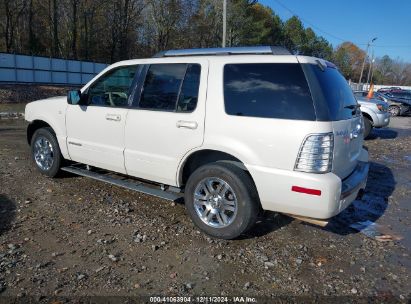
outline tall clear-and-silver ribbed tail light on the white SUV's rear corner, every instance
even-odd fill
[[[295,171],[310,173],[327,173],[332,169],[334,151],[334,134],[308,135],[295,162]]]

